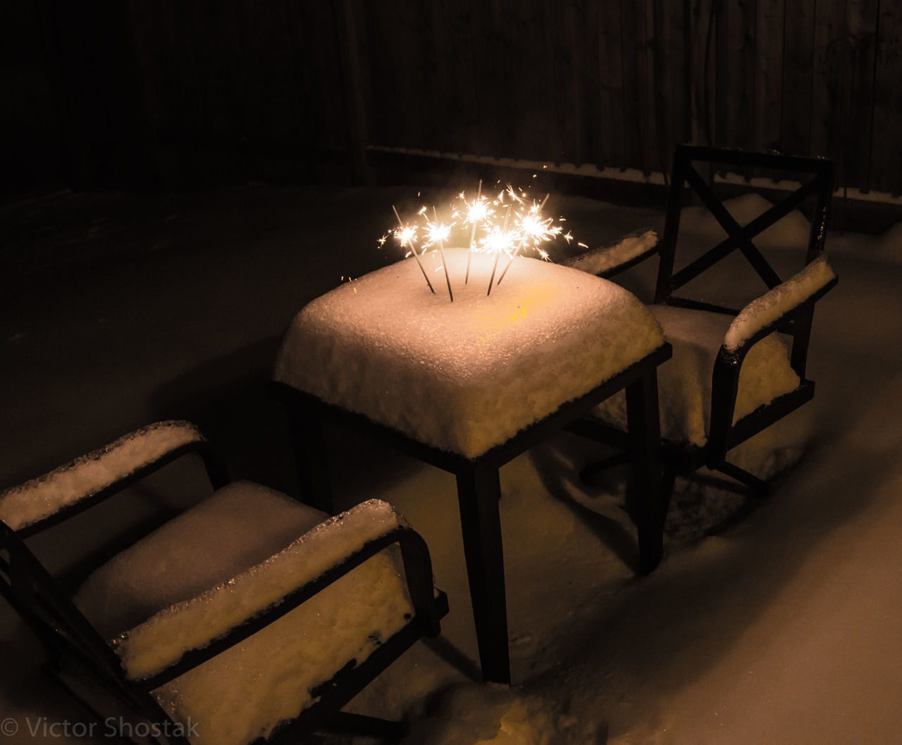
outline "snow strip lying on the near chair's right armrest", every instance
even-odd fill
[[[125,631],[114,647],[126,675],[140,680],[170,668],[399,527],[407,523],[378,499],[319,523],[270,559]]]

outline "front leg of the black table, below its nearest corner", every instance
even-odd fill
[[[474,466],[457,474],[457,500],[464,534],[466,575],[483,679],[511,684],[504,555],[498,500],[498,468]]]

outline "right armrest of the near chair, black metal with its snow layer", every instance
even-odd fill
[[[113,641],[127,677],[152,689],[244,641],[366,559],[400,544],[411,602],[437,632],[425,541],[391,504],[371,499],[329,518],[285,549],[197,597],[171,605]]]

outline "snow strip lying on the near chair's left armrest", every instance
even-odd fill
[[[0,493],[0,520],[14,531],[97,494],[167,452],[204,436],[190,422],[156,422]]]

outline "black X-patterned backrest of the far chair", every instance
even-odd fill
[[[754,168],[756,172],[762,169],[780,177],[791,174],[794,179],[801,179],[801,184],[778,204],[774,204],[767,211],[743,226],[733,219],[721,199],[714,194],[712,186],[695,168],[696,163],[740,169]],[[750,263],[751,268],[754,269],[769,289],[778,286],[782,281],[781,278],[777,271],[771,267],[768,259],[756,247],[753,239],[771,225],[786,217],[787,214],[790,214],[808,199],[816,200],[805,253],[805,264],[810,263],[824,250],[826,219],[830,197],[833,193],[834,174],[835,166],[833,161],[824,158],[804,158],[781,155],[775,152],[759,153],[695,145],[677,145],[674,153],[670,190],[667,195],[667,220],[664,226],[663,237],[658,246],[660,262],[658,264],[658,281],[655,288],[655,303],[681,305],[721,313],[737,313],[737,310],[733,308],[703,303],[676,295],[677,290],[686,286],[695,277],[712,268],[714,264],[736,250],[741,251],[741,254]],[[695,257],[685,267],[675,271],[676,238],[679,232],[680,215],[683,209],[686,186],[701,199],[717,223],[723,227],[727,237],[705,251],[701,256]]]

